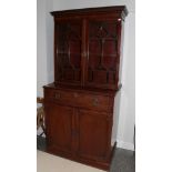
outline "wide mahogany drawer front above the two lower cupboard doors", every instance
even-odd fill
[[[113,100],[108,95],[91,94],[78,91],[45,90],[44,100],[64,105],[79,107],[97,111],[112,111]]]

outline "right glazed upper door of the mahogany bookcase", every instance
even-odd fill
[[[88,21],[85,85],[115,89],[118,82],[119,22]]]

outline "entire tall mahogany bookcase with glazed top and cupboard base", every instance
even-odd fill
[[[47,151],[109,170],[127,8],[51,12],[54,82],[44,87]]]

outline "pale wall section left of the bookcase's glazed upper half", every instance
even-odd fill
[[[43,97],[42,85],[53,82],[52,0],[37,0],[37,95]]]

